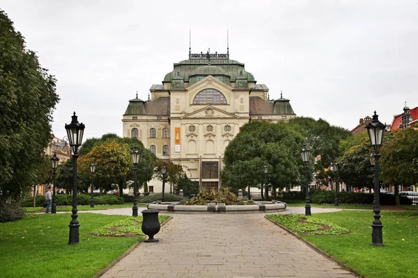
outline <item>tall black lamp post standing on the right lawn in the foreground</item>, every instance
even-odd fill
[[[375,218],[373,224],[371,224],[371,245],[385,246],[383,244],[382,236],[382,222],[380,222],[380,183],[379,183],[379,158],[380,158],[380,147],[383,143],[383,137],[385,136],[386,125],[382,124],[378,120],[378,115],[376,111],[374,112],[373,119],[369,124],[367,124],[366,129],[369,133],[370,145],[373,147],[374,154],[374,165],[375,165],[375,181],[374,181],[374,199],[375,204],[373,206],[373,212]]]

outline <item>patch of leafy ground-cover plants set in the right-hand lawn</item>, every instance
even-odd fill
[[[340,235],[347,234],[348,229],[330,221],[302,214],[270,214],[268,218],[294,231],[296,234]]]

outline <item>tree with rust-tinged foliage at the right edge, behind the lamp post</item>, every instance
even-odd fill
[[[418,183],[418,131],[398,129],[385,136],[380,151],[380,179],[395,186],[396,204],[399,204],[398,185]]]

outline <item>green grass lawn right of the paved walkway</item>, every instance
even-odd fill
[[[341,235],[299,235],[368,278],[417,277],[418,213],[382,211],[383,243],[371,243],[372,211],[314,213],[350,231]]]

